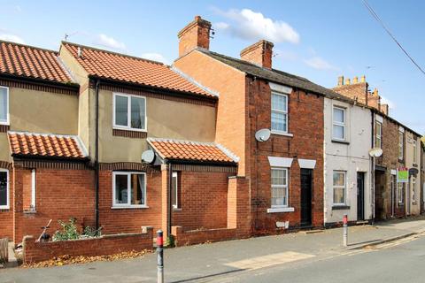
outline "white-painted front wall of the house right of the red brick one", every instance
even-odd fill
[[[345,108],[346,142],[332,142],[334,105]],[[349,221],[357,220],[357,172],[365,172],[365,219],[373,218],[371,189],[372,113],[358,105],[325,98],[324,103],[324,215],[325,223],[340,222],[344,214]],[[333,209],[333,172],[346,172],[346,205],[350,209]]]

